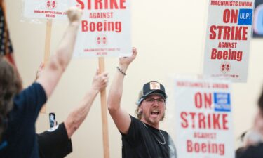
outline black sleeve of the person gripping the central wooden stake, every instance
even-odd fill
[[[38,134],[37,142],[41,158],[63,158],[72,152],[72,140],[67,136],[64,123],[57,129]]]

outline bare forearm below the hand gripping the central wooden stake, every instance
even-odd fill
[[[79,126],[82,124],[84,119],[86,119],[90,107],[93,104],[95,97],[99,93],[98,90],[90,90],[86,93],[86,96],[81,100],[79,107],[77,107],[73,112],[69,114],[65,121],[65,127],[67,130],[67,136],[72,137],[76,129],[79,129]]]

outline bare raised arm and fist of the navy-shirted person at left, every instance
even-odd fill
[[[69,17],[69,25],[60,41],[58,49],[51,56],[48,64],[45,65],[43,74],[36,80],[43,86],[48,98],[53,93],[55,86],[58,84],[72,57],[82,11],[76,7],[69,8],[67,15]]]

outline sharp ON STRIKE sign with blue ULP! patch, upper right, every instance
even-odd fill
[[[245,82],[254,0],[209,0],[203,74]]]

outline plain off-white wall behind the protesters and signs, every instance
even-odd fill
[[[139,54],[128,69],[122,99],[123,108],[130,114],[134,114],[137,93],[144,82],[156,80],[168,85],[168,74],[202,72],[203,32],[207,17],[204,0],[137,0],[132,1],[132,5],[132,41]],[[20,0],[6,0],[6,9],[15,60],[23,83],[28,86],[34,80],[43,59],[46,25],[45,22],[38,25],[21,22]],[[58,46],[66,26],[66,22],[53,24],[52,52]],[[257,98],[262,88],[262,58],[262,39],[252,39],[248,82],[233,84],[232,88],[236,138],[251,126],[256,111]],[[106,59],[106,70],[111,77],[109,83],[112,82],[118,62],[117,58]],[[37,131],[48,129],[48,112],[55,112],[59,122],[65,120],[90,88],[97,67],[96,58],[72,60],[47,103],[47,113],[39,115]],[[171,91],[170,87],[166,88]],[[103,157],[100,113],[100,98],[97,97],[86,121],[72,138],[74,152],[68,157]],[[108,121],[110,154],[118,158],[121,157],[121,135],[109,115]],[[166,126],[166,122],[161,125],[164,129]]]

